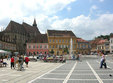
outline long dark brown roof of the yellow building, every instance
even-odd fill
[[[67,30],[47,30],[48,36],[75,36],[72,31]]]

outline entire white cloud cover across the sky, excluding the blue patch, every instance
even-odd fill
[[[92,39],[113,32],[113,14],[102,14],[95,20],[84,15],[61,20],[55,15],[64,8],[70,11],[69,4],[74,1],[76,0],[0,0],[0,28],[6,27],[11,19],[32,24],[35,17],[39,30],[43,33],[47,29],[67,29],[72,30],[78,37]],[[93,5],[90,13],[93,14],[97,9]]]

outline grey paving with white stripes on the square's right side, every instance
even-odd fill
[[[107,69],[100,69],[100,57],[82,56],[80,61],[67,61],[28,83],[113,83],[113,58],[107,56]]]

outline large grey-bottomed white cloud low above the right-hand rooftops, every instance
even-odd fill
[[[113,14],[103,14],[95,20],[80,15],[72,19],[56,20],[51,26],[54,29],[72,30],[75,35],[84,39],[93,39],[95,36],[113,32]]]

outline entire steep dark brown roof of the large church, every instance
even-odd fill
[[[10,21],[10,23],[8,24],[8,26],[3,32],[13,32],[13,33],[20,33],[20,34],[33,33],[36,35],[41,34],[36,26],[31,26],[25,22],[23,22],[23,24],[19,24],[14,21]]]

